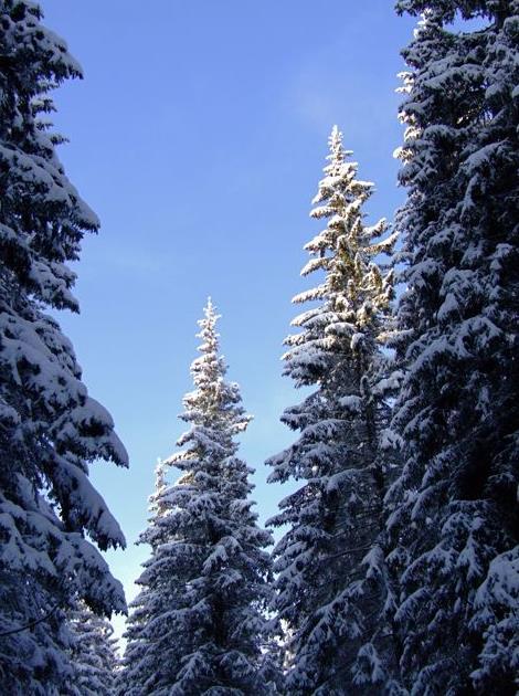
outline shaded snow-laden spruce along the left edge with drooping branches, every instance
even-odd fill
[[[83,235],[96,217],[67,180],[50,133],[50,91],[81,75],[32,2],[0,0],[0,692],[54,693],[68,674],[64,611],[83,598],[125,609],[102,549],[124,537],[88,463],[127,463],[45,307],[77,310]],[[27,628],[30,626],[30,628]]]

